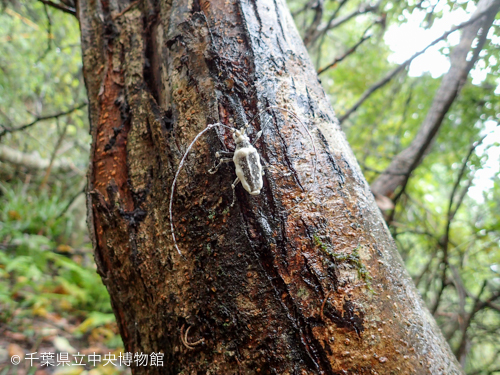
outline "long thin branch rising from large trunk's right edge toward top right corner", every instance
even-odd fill
[[[392,71],[390,71],[384,78],[382,78],[381,80],[379,80],[377,83],[375,83],[373,86],[371,86],[370,88],[368,88],[364,93],[363,95],[361,95],[361,98],[358,99],[358,101],[351,107],[349,108],[342,116],[339,117],[339,122],[342,124],[342,122],[344,122],[345,120],[347,120],[349,118],[350,115],[352,115],[375,91],[377,91],[379,88],[381,87],[384,87],[387,83],[389,83],[398,73],[400,73],[403,69],[405,69],[407,66],[409,66],[411,64],[411,62],[413,60],[415,60],[418,56],[420,56],[421,54],[423,54],[425,51],[427,51],[430,47],[438,44],[439,42],[445,40],[446,38],[448,38],[448,36],[452,33],[454,33],[455,31],[458,31],[474,22],[476,22],[478,19],[480,19],[481,17],[483,17],[485,14],[487,14],[491,8],[493,8],[493,6],[490,6],[488,7],[487,9],[485,9],[483,12],[479,13],[476,17],[473,17],[471,18],[470,20],[466,21],[466,22],[463,22],[457,26],[455,26],[454,28],[452,28],[451,30],[445,32],[443,35],[441,35],[439,38],[435,39],[434,41],[432,41],[429,45],[427,45],[427,47],[425,47],[424,49],[416,52],[415,54],[413,54],[413,56],[411,56],[408,60],[406,60],[405,62],[403,62],[401,65],[397,66],[396,68],[394,68]]]

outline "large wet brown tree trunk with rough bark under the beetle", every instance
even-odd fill
[[[458,374],[406,273],[284,2],[80,1],[92,152],[89,226],[125,347],[165,374]],[[207,124],[261,109],[260,195]],[[293,207],[305,191],[308,198]],[[187,335],[185,345],[181,332]]]

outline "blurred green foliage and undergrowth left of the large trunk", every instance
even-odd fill
[[[109,353],[122,346],[86,233],[86,100],[77,20],[41,2],[3,4],[0,147],[52,165],[26,168],[0,157],[2,374],[36,370],[10,364],[19,351]]]

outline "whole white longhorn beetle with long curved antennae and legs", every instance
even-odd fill
[[[236,172],[236,179],[234,182],[231,184],[231,187],[233,189],[233,201],[231,203],[231,207],[234,205],[236,202],[236,186],[238,183],[241,182],[241,185],[243,188],[251,195],[258,195],[260,194],[260,191],[262,190],[263,186],[263,181],[262,181],[262,176],[264,175],[264,168],[262,167],[260,155],[257,152],[257,149],[254,147],[255,143],[259,140],[259,138],[262,136],[262,130],[264,129],[265,125],[267,122],[262,126],[261,130],[257,133],[255,139],[253,142],[250,142],[250,138],[247,135],[247,129],[250,126],[250,124],[262,113],[265,111],[269,111],[271,109],[278,109],[280,111],[286,112],[290,115],[292,115],[300,124],[301,126],[305,129],[307,132],[311,143],[312,147],[314,150],[314,155],[315,158],[313,159],[313,174],[312,174],[312,180],[315,178],[316,174],[316,162],[317,162],[317,153],[316,153],[316,146],[314,144],[314,139],[309,132],[309,129],[304,125],[304,123],[300,120],[300,118],[292,111],[282,108],[282,107],[277,107],[277,106],[271,106],[268,107],[264,110],[262,110],[257,116],[254,117],[249,123],[247,123],[245,126],[243,126],[241,129],[237,128],[231,128],[230,126],[221,124],[221,123],[216,123],[216,124],[210,124],[207,125],[205,129],[203,129],[201,132],[199,132],[196,137],[193,139],[193,141],[190,143],[188,148],[186,149],[186,152],[182,156],[182,159],[179,163],[179,167],[177,168],[177,172],[175,173],[174,181],[172,182],[172,188],[170,189],[170,203],[169,203],[169,215],[170,215],[170,229],[172,232],[172,239],[174,241],[174,246],[177,249],[177,252],[179,255],[182,256],[182,253],[179,249],[179,246],[177,246],[177,240],[175,238],[175,233],[174,233],[174,221],[173,221],[173,216],[172,216],[172,204],[173,204],[173,198],[174,198],[174,192],[175,192],[175,184],[177,183],[177,178],[179,177],[179,173],[184,166],[184,162],[187,158],[187,155],[189,154],[189,151],[193,147],[193,145],[196,143],[196,141],[208,130],[216,127],[222,127],[231,130],[233,133],[233,139],[235,142],[235,150],[234,152],[228,152],[228,151],[218,151],[215,156],[219,158],[219,163],[211,168],[208,173],[214,174],[218,171],[219,167],[228,162],[234,162],[235,165],[235,172]],[[308,193],[308,192],[307,192]],[[297,202],[291,209],[295,208],[299,203],[301,203],[304,199],[307,197],[307,193],[304,195],[304,197]],[[291,210],[289,209],[289,210]]]

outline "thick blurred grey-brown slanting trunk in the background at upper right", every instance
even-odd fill
[[[471,19],[476,18],[487,9],[490,10],[483,17],[464,28],[460,43],[451,53],[450,70],[444,75],[431,108],[427,112],[415,139],[406,149],[396,155],[384,172],[373,181],[371,189],[375,196],[392,197],[396,189],[406,185],[410,174],[422,162],[425,154],[430,151],[444,117],[460,93],[479,52],[483,48],[488,30],[500,9],[500,0],[480,0]],[[474,55],[468,59],[472,43],[478,37],[479,30],[482,32],[475,46]]]

